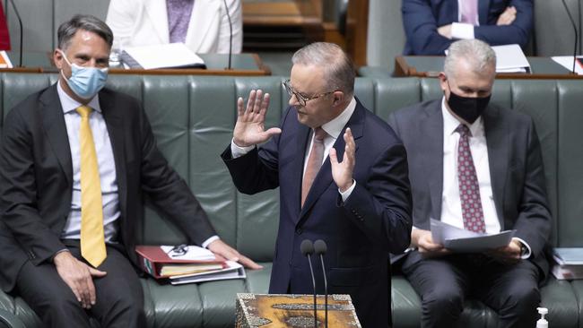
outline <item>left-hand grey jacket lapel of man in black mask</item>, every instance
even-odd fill
[[[427,116],[423,117],[421,133],[423,144],[427,149],[423,152],[424,167],[427,171],[427,183],[431,197],[431,216],[435,220],[441,218],[441,198],[443,194],[443,116],[441,115],[441,101],[436,100],[434,106],[427,109]],[[426,141],[426,142],[425,142]]]

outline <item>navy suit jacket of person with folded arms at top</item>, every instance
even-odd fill
[[[517,9],[516,20],[497,26],[498,17],[509,6]],[[438,28],[458,22],[457,0],[403,0],[401,11],[407,39],[404,55],[443,56],[456,41],[439,35]],[[525,47],[533,25],[533,0],[478,0],[478,16],[475,39],[491,46],[518,43]]]

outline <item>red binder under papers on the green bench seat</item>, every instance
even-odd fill
[[[170,277],[170,275],[161,274],[161,269],[166,264],[221,264],[222,268],[226,267],[226,259],[220,255],[215,255],[215,259],[210,261],[180,260],[171,258],[160,246],[135,246],[135,253],[138,255],[138,261],[144,272],[148,272],[157,279]]]

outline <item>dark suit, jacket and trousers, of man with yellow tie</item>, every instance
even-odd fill
[[[106,89],[99,95],[113,149],[121,216],[118,244],[108,246],[108,258],[98,268],[108,276],[94,280],[98,305],[92,312],[98,317],[96,312],[108,312],[101,307],[119,303],[109,297],[134,292],[136,301],[141,301],[142,289],[127,258],[136,263],[134,247],[144,220],[144,197],[174,220],[190,242],[200,245],[216,235],[186,182],[158,151],[144,109],[122,93]],[[51,306],[61,307],[57,312],[65,315],[66,325],[82,326],[86,315],[51,263],[65,246],[78,255],[74,243],[59,238],[71,211],[73,167],[57,84],[30,95],[8,113],[1,147],[0,288],[10,291],[17,285],[29,305],[56,326],[57,320],[48,317]],[[124,277],[127,272],[133,276]],[[119,286],[127,289],[120,293]],[[111,315],[102,323],[109,326],[113,319]]]

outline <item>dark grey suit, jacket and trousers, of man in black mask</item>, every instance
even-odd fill
[[[551,214],[546,200],[541,149],[532,119],[493,105],[484,111],[482,117],[500,228],[517,229],[516,237],[526,241],[532,255],[527,261],[509,266],[482,255],[451,255],[429,260],[414,251],[406,256],[403,271],[413,288],[422,295],[423,311],[427,315],[432,314],[431,301],[445,297],[453,301],[439,304],[440,313],[455,318],[461,312],[463,298],[473,293],[498,310],[500,321],[505,324],[515,320],[512,318],[514,311],[520,309],[507,309],[500,298],[509,296],[509,293],[533,298],[533,302],[540,298],[536,286],[538,279],[544,278],[549,269],[545,249],[550,236]],[[401,109],[389,118],[389,124],[403,140],[407,151],[413,193],[413,226],[429,230],[430,217],[439,220],[441,215],[441,99]],[[515,281],[518,277],[522,282]],[[434,286],[435,283],[438,286]],[[434,295],[436,293],[439,295]],[[532,311],[535,314],[535,307]],[[423,323],[440,325],[441,322],[424,319]]]

